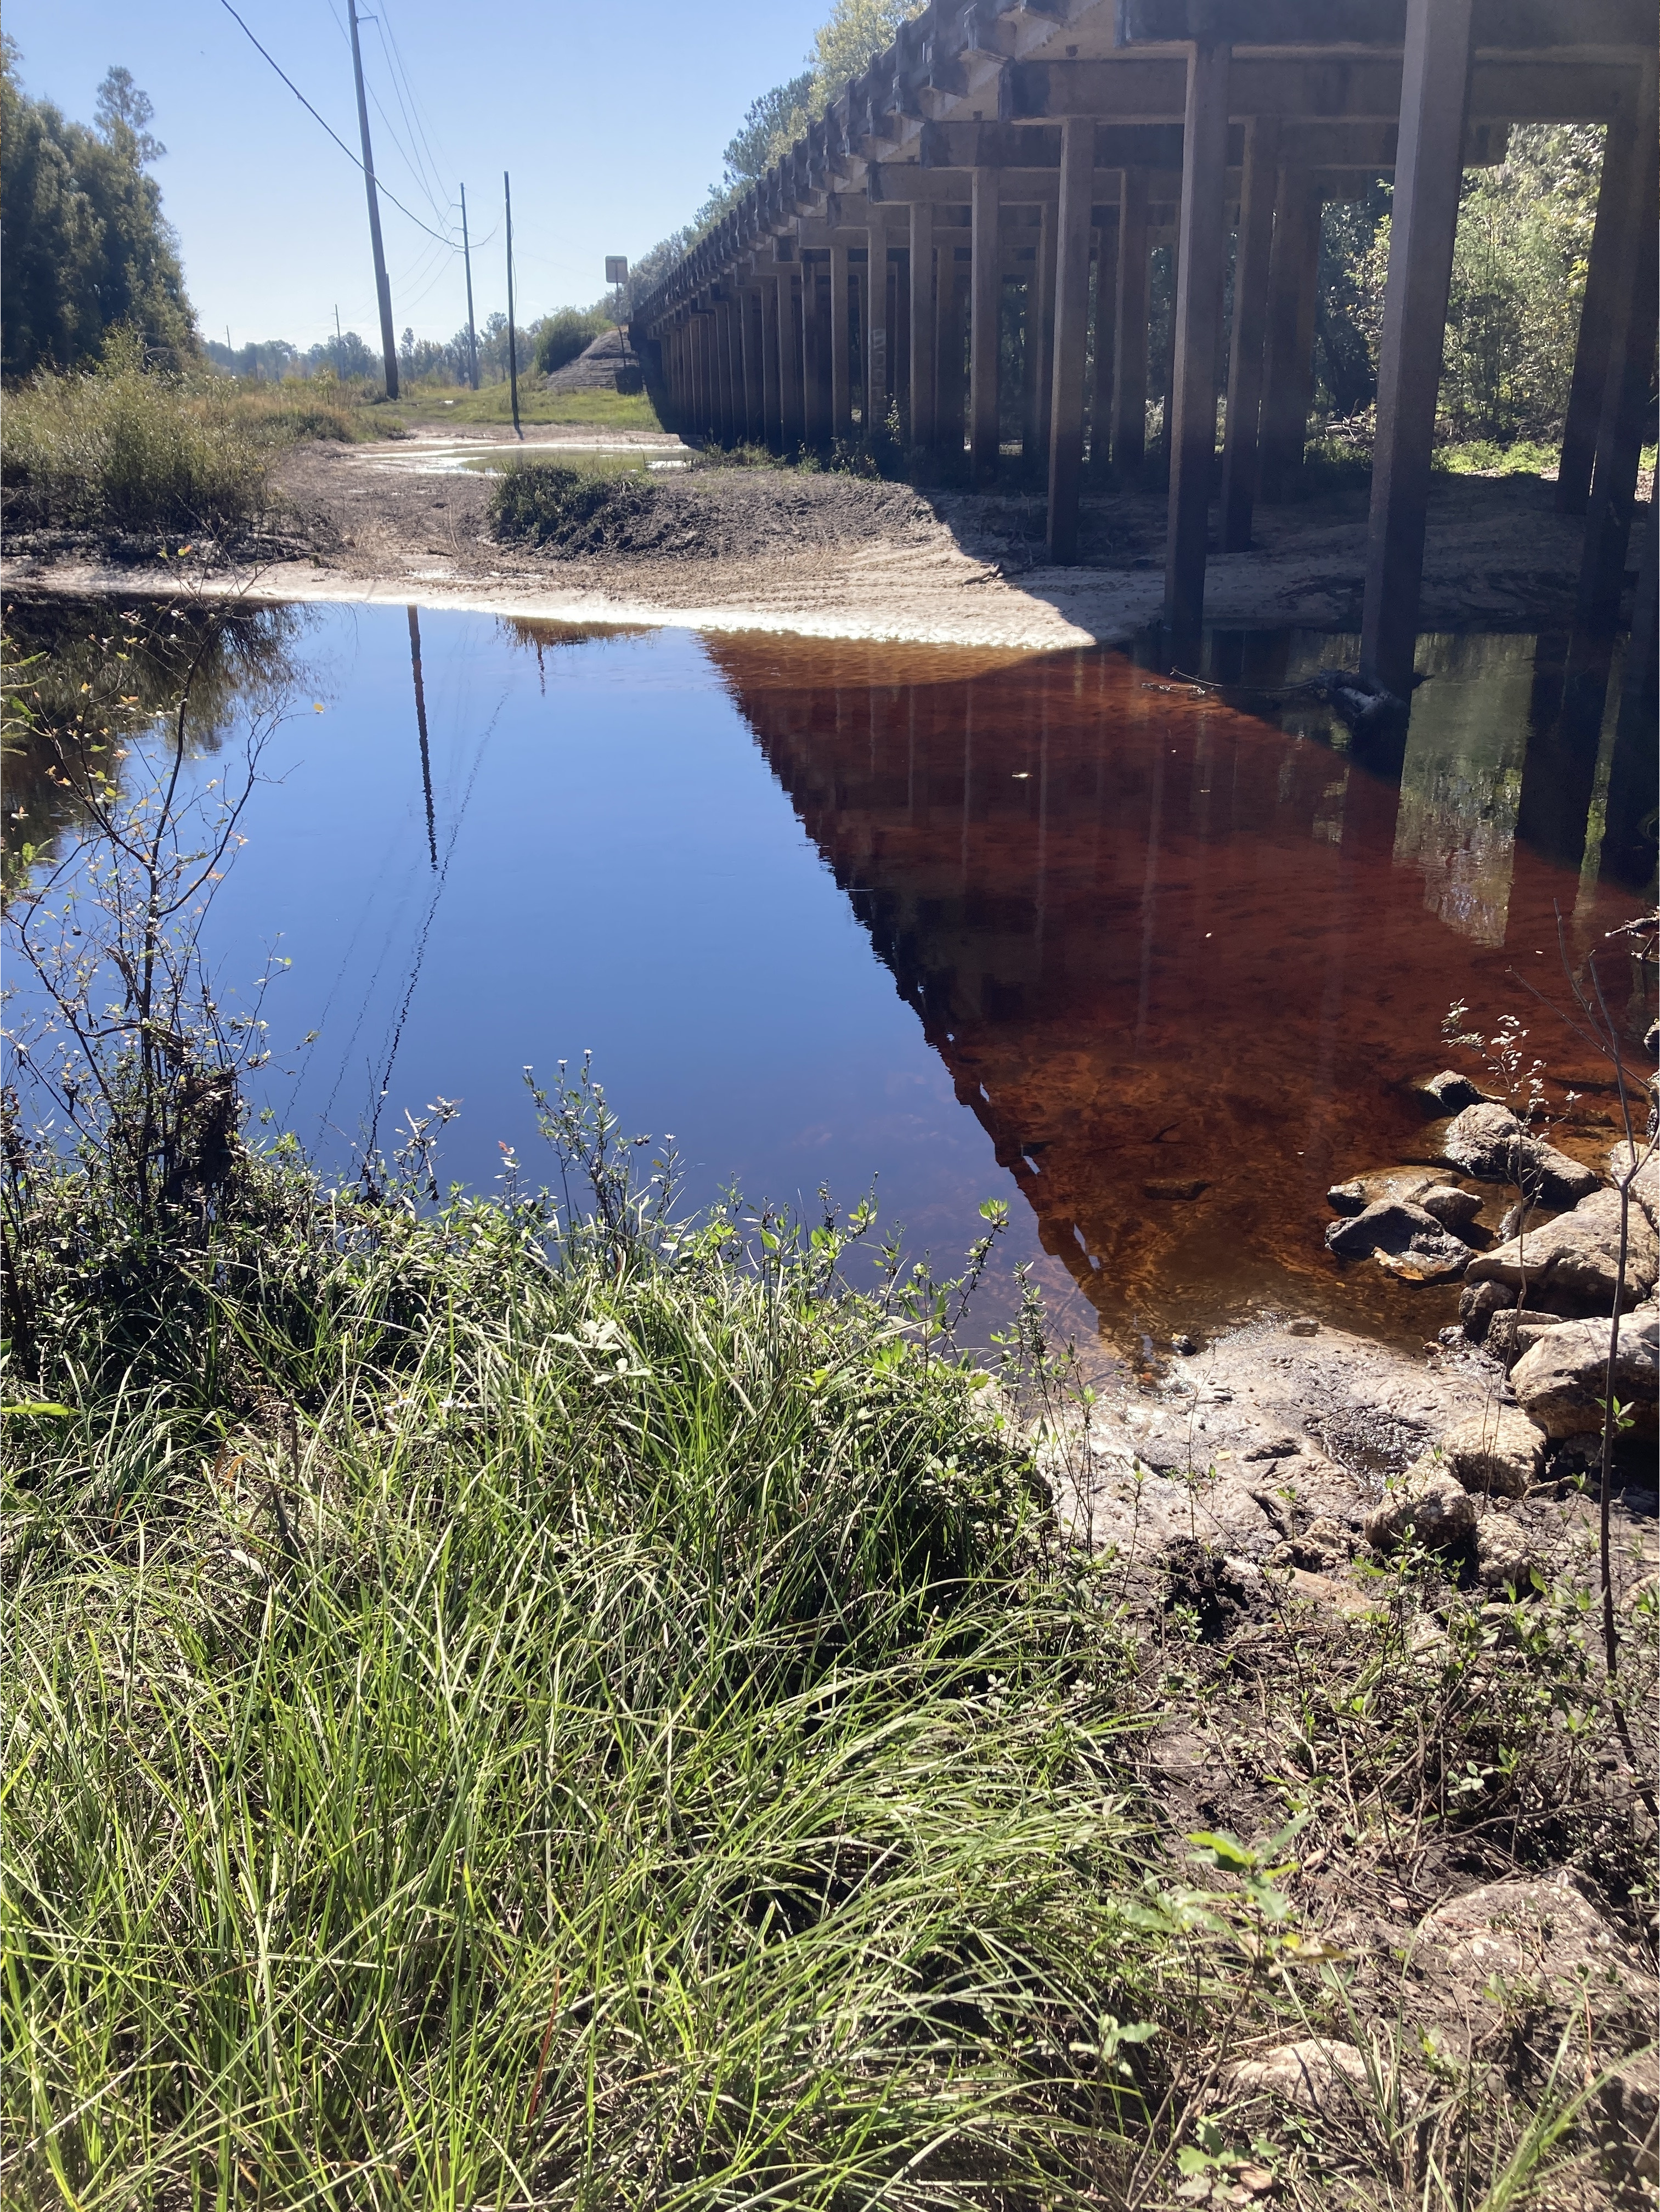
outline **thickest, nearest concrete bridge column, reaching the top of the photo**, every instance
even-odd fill
[[[1377,363],[1361,672],[1412,697],[1441,334],[1459,228],[1472,0],[1408,0],[1390,274]]]

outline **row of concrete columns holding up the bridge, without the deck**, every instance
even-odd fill
[[[1394,217],[1379,361],[1361,666],[1405,697],[1412,681],[1441,345],[1465,159],[1472,0],[1408,7]],[[1295,128],[1244,124],[1228,168],[1224,44],[1186,71],[1175,299],[1164,400],[1169,535],[1164,617],[1197,635],[1211,507],[1215,549],[1251,544],[1257,500],[1301,465],[1313,398],[1321,204],[1346,188],[1295,157]],[[890,173],[892,175],[892,173]],[[1047,456],[1051,562],[1078,557],[1087,467],[1135,478],[1149,392],[1153,177],[1098,170],[1093,117],[1067,117],[1056,188],[989,166],[950,184],[901,173],[907,204],[848,204],[801,219],[660,330],[675,420],[722,442],[830,449],[888,429],[930,462],[992,482],[1000,458],[1003,292],[1025,283],[1023,438]],[[963,190],[965,188],[965,190]],[[947,197],[950,195],[950,197]],[[967,223],[961,204],[967,199]],[[1235,230],[1233,323],[1224,274]],[[1656,358],[1656,80],[1633,75],[1607,126],[1558,502],[1585,513],[1580,619],[1611,624],[1625,580],[1642,420]],[[854,334],[861,358],[854,376]],[[861,420],[854,425],[854,392]],[[1220,482],[1217,403],[1226,398]]]

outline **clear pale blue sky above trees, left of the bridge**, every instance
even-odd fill
[[[339,135],[356,146],[345,0],[235,0]],[[604,290],[606,254],[675,230],[719,175],[757,93],[801,69],[826,0],[359,0],[374,166],[434,228],[467,184],[474,299],[507,305],[502,168],[513,173],[520,319]],[[7,0],[22,84],[91,122],[97,82],[124,62],[155,102],[162,201],[206,336],[294,338],[376,327],[363,179],[259,60],[221,0]],[[383,42],[383,31],[390,40]],[[401,55],[427,161],[401,111]],[[407,102],[407,93],[405,93]],[[387,122],[390,117],[390,122]],[[401,142],[401,144],[398,144]],[[403,150],[401,150],[403,148]],[[423,188],[418,168],[427,170]],[[449,217],[454,221],[454,217]],[[392,314],[447,338],[465,321],[460,254],[383,208]]]

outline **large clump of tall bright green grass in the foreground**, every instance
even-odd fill
[[[1085,2201],[1124,1652],[983,1378],[719,1230],[319,1206],[9,1420],[9,2201]]]

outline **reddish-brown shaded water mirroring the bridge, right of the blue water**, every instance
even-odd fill
[[[1421,1150],[1405,1086],[1448,1002],[1512,1004],[1580,894],[1591,787],[1554,849],[1521,841],[1532,639],[1432,641],[1394,759],[1299,690],[1332,639],[1226,641],[1228,695],[1100,653],[969,681],[943,655],[710,653],[1109,1334],[1286,1298],[1423,1327],[1381,1276],[1332,1296],[1321,1194]]]

